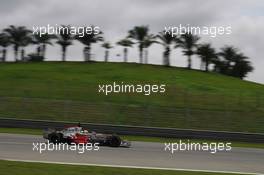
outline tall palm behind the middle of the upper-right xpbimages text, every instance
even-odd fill
[[[176,46],[183,49],[183,54],[188,57],[188,69],[192,68],[192,58],[191,56],[195,53],[194,49],[197,47],[197,42],[200,37],[193,35],[191,33],[185,33],[180,35],[176,39]]]

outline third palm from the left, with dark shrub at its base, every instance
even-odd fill
[[[33,42],[38,45],[37,47],[37,55],[45,58],[46,47],[48,45],[52,45],[51,40],[56,38],[56,36],[45,33],[41,36],[39,34],[35,34],[33,36]]]

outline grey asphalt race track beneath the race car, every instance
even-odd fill
[[[132,142],[131,148],[100,147],[99,151],[33,151],[41,136],[0,133],[0,159],[51,161],[116,166],[156,167],[264,174],[264,149],[233,148],[231,152],[185,151],[173,155],[163,143]]]

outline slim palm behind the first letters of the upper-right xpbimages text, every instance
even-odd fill
[[[157,35],[157,37],[160,40],[160,44],[164,46],[165,50],[163,52],[163,64],[165,66],[170,66],[170,45],[176,41],[176,38],[173,37],[171,34],[163,31],[163,32],[159,32],[159,34]]]

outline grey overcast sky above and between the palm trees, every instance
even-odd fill
[[[210,38],[201,36],[201,42],[210,42],[219,49],[234,45],[250,57],[255,68],[248,80],[264,83],[264,1],[263,0],[0,0],[0,29],[9,25],[33,26],[47,24],[70,24],[73,26],[99,26],[106,41],[116,43],[127,36],[135,25],[148,25],[156,34],[165,26],[231,26],[232,34]],[[58,45],[47,48],[49,60],[61,59]],[[68,47],[68,60],[83,60],[83,46],[77,41]],[[13,59],[9,49],[8,59]],[[27,48],[27,53],[35,48]],[[149,49],[149,61],[162,63],[161,45]],[[104,50],[100,44],[92,46],[95,60],[103,60]],[[115,46],[110,61],[122,61],[122,47]],[[129,50],[129,61],[138,61],[138,49]],[[200,60],[193,57],[194,67],[200,67]],[[171,54],[175,66],[186,66],[181,50]]]

